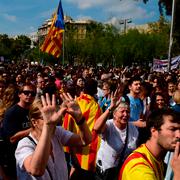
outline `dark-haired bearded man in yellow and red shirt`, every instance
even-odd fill
[[[180,119],[171,109],[154,111],[147,120],[149,139],[125,160],[119,180],[164,180],[164,157],[180,138]]]

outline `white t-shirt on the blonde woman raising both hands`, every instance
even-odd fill
[[[67,164],[63,151],[63,145],[67,144],[72,134],[73,133],[64,130],[62,127],[57,127],[55,131],[55,135],[51,140],[53,147],[54,161],[52,157],[49,156],[47,166],[51,176],[55,180],[68,179],[68,170],[67,170]],[[33,138],[31,133],[30,136]],[[34,138],[33,140],[37,143],[37,141]],[[30,175],[27,171],[25,171],[23,166],[24,160],[34,152],[35,148],[36,145],[34,144],[34,142],[32,142],[27,137],[19,141],[15,152],[18,180],[51,180],[47,168],[45,170],[44,175],[41,177],[34,177]]]

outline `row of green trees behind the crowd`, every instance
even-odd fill
[[[148,31],[140,32],[130,29],[127,33],[120,32],[112,25],[91,23],[86,27],[86,34],[78,38],[77,27],[66,27],[64,53],[59,59],[42,53],[37,43],[31,47],[30,39],[18,36],[16,39],[0,35],[0,56],[6,59],[21,61],[63,62],[65,64],[96,65],[148,65],[153,58],[167,58],[170,24],[163,16],[158,22],[150,23]],[[43,39],[42,39],[43,41]],[[172,56],[180,54],[180,48],[175,41]],[[63,56],[64,55],[64,56]],[[64,57],[64,58],[63,58]]]

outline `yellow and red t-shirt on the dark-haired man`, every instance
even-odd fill
[[[119,180],[164,180],[163,161],[158,161],[145,144],[133,151],[125,160]]]

